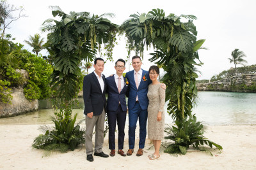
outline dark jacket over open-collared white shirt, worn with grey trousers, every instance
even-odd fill
[[[94,73],[84,76],[83,97],[84,97],[84,115],[93,112],[93,116],[100,115],[103,108],[106,110],[106,79],[102,74],[104,81],[104,90],[100,88],[100,83]]]

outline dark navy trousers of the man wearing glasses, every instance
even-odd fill
[[[126,121],[127,111],[122,111],[119,105],[116,111],[108,111],[108,145],[110,150],[115,150],[115,131],[116,131],[116,120],[118,127],[118,150],[124,149],[124,127]]]

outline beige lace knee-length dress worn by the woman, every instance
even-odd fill
[[[161,88],[161,83],[148,86],[148,139],[164,139],[164,103],[165,90]],[[157,113],[162,111],[161,121],[157,121]]]

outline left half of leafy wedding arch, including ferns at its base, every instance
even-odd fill
[[[113,16],[111,13],[90,16],[88,12],[72,11],[68,15],[58,6],[53,6],[52,15],[60,17],[61,20],[45,20],[43,30],[49,31],[46,46],[54,67],[51,86],[56,96],[56,99],[52,100],[56,110],[56,118],[52,120],[55,127],[38,136],[33,147],[65,152],[68,148],[74,150],[84,142],[84,131],[81,131],[79,126],[74,127],[76,116],[71,117],[72,109],[77,103],[74,98],[83,81],[82,60],[88,63],[88,69],[91,66],[89,63],[96,58],[97,49],[100,51],[103,43],[106,44],[106,56],[111,60],[117,25],[104,18]],[[52,22],[54,24],[51,24]]]

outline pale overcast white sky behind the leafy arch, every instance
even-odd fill
[[[91,15],[102,13],[114,13],[115,18],[110,18],[111,22],[115,24],[122,24],[129,19],[129,15],[134,13],[147,13],[154,8],[163,9],[168,15],[174,13],[179,16],[195,15],[197,20],[194,20],[196,30],[198,31],[197,39],[206,39],[204,47],[207,50],[199,50],[199,57],[204,63],[202,67],[198,67],[201,73],[198,73],[197,80],[210,79],[214,74],[218,74],[223,70],[234,67],[230,64],[228,58],[231,57],[231,52],[236,48],[246,54],[245,60],[247,65],[256,64],[255,55],[255,39],[256,39],[256,1],[255,0],[215,0],[215,1],[201,1],[201,0],[158,0],[158,1],[114,1],[114,0],[98,0],[98,1],[79,1],[79,0],[8,0],[9,4],[14,6],[22,6],[28,17],[20,18],[10,25],[10,29],[6,33],[12,34],[15,38],[15,43],[21,43],[24,48],[32,52],[32,48],[26,43],[25,39],[29,39],[30,35],[39,33],[46,39],[46,33],[42,32],[42,24],[48,18],[54,18],[51,14],[49,6],[60,6],[65,13],[70,11],[87,11]],[[16,14],[17,15],[17,14]],[[15,13],[13,13],[15,16]],[[154,63],[148,62],[150,59],[150,49],[144,52],[143,69],[148,68]],[[47,54],[44,50],[43,55]],[[134,55],[135,53],[132,53]],[[126,59],[127,50],[125,48],[124,37],[118,38],[118,45],[113,51],[113,59]],[[104,74],[109,76],[115,73],[115,62],[106,62]],[[129,68],[129,63],[125,64],[126,71],[132,70]],[[241,65],[238,65],[241,66]],[[93,68],[89,70],[89,73]]]

